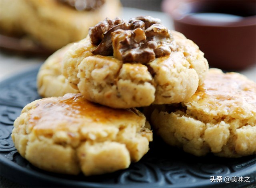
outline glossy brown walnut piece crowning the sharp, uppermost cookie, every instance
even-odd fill
[[[98,45],[92,51],[94,55],[113,55],[124,63],[146,64],[176,50],[170,30],[150,16],[132,18],[128,22],[120,18],[105,19],[91,27],[89,35],[91,42]]]

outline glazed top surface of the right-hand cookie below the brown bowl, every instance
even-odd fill
[[[210,69],[205,83],[184,105],[188,113],[197,114],[205,121],[227,115],[235,119],[255,119],[256,84],[236,72]]]

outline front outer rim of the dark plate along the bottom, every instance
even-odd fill
[[[84,181],[80,181],[80,180],[68,180],[68,179],[63,179],[63,178],[59,178],[56,176],[50,176],[46,173],[41,173],[38,171],[31,171],[27,168],[24,168],[22,166],[17,165],[16,163],[14,163],[13,161],[10,161],[8,159],[6,159],[5,157],[3,157],[2,155],[0,155],[0,161],[1,161],[1,175],[3,175],[4,177],[13,180],[20,184],[24,184],[24,185],[28,185],[28,186],[38,186],[38,187],[42,187],[42,185],[46,185],[46,186],[55,186],[55,187],[84,187],[84,186],[88,186],[88,187],[104,187],[104,188],[113,188],[113,187],[156,187],[159,185],[158,184],[101,184],[101,183],[92,183],[92,182],[84,182]],[[4,166],[2,166],[4,165]],[[255,166],[255,164],[254,164]],[[256,166],[255,166],[256,167]],[[8,169],[9,171],[7,173],[2,173],[2,170],[6,170]],[[15,173],[13,173],[12,170],[16,170]],[[246,173],[244,173],[244,171],[246,171]],[[247,170],[244,170],[243,172],[239,172],[239,173],[235,173],[236,176],[249,176],[250,178],[253,178],[253,175],[255,174],[255,170],[253,168],[249,168]],[[8,177],[8,175],[14,175],[14,176],[19,176],[19,178],[10,178]],[[22,174],[22,176],[20,176]],[[233,172],[234,174],[234,172]],[[232,175],[229,174],[229,175]],[[35,179],[34,179],[35,178]],[[17,181],[18,179],[18,181]],[[29,180],[29,181],[28,181]],[[39,181],[38,181],[39,180]],[[255,181],[250,182],[250,184],[246,184],[246,186],[249,186],[251,184],[255,183]],[[212,185],[212,186],[209,186]],[[223,185],[227,185],[227,186],[223,186]],[[244,187],[245,184],[227,184],[224,182],[215,182],[213,184],[209,184],[209,180],[203,180],[200,183],[196,183],[196,184],[170,184],[170,185],[164,185],[161,187],[168,187],[168,188],[192,188],[192,187],[234,187],[236,186],[237,188],[239,187]]]

